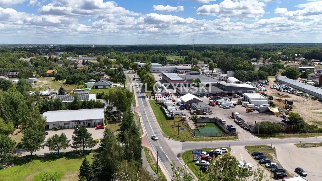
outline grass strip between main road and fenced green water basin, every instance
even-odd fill
[[[171,138],[174,138],[174,139],[186,140],[186,141],[206,141],[207,140],[207,138],[204,138],[204,137],[194,138],[193,135],[188,130],[188,128],[183,123],[179,123],[179,135],[178,135],[178,124],[175,123],[174,120],[166,120],[162,110],[160,109],[161,106],[156,102],[156,100],[149,100],[149,102],[162,131],[167,136],[170,136]],[[183,128],[184,130],[181,131],[180,128]],[[209,137],[208,140],[234,140],[237,138],[238,136]]]

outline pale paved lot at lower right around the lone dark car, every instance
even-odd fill
[[[315,139],[312,142],[315,142]],[[295,168],[301,167],[308,174],[305,179],[321,180],[322,147],[298,148],[294,144],[289,143],[276,145],[275,148],[279,163],[289,173],[297,175],[294,172]]]

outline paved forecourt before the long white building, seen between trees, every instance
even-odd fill
[[[91,134],[92,134],[92,138],[94,139],[100,139],[100,138],[103,138],[103,133],[104,133],[104,129],[95,129],[95,128],[86,128]],[[68,139],[71,140],[70,143],[72,143],[72,136],[75,135],[74,133],[74,129],[61,129],[61,130],[58,130],[58,131],[52,131],[52,130],[46,130],[48,132],[48,135],[46,135],[46,140],[55,135],[55,134],[62,134],[62,133],[65,133],[65,135],[67,136]],[[93,148],[98,148],[99,144],[97,144],[95,147]],[[73,149],[71,147],[69,148],[66,148],[65,150],[61,150],[62,152],[67,152],[67,151],[72,151]],[[51,151],[49,151],[49,148],[48,147],[45,147],[33,154],[37,154],[37,155],[43,155],[45,153],[50,153]],[[22,155],[29,155],[30,153],[27,153],[27,152],[24,152],[24,150],[22,149],[18,149],[17,154],[22,154]]]

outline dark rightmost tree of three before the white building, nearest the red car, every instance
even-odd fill
[[[74,149],[83,148],[84,151],[85,148],[92,148],[96,145],[96,142],[92,138],[92,134],[83,126],[81,126],[75,135],[72,136],[72,139],[73,142],[71,148]]]

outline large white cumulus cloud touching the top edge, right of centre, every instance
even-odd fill
[[[198,15],[218,17],[259,18],[265,13],[266,5],[258,0],[231,1],[224,0],[220,4],[203,5],[197,9]]]

